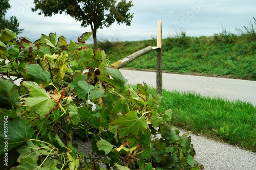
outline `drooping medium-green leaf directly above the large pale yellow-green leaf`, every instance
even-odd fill
[[[27,64],[22,76],[27,81],[42,84],[44,87],[47,87],[48,83],[51,81],[50,72],[43,70],[39,64]]]

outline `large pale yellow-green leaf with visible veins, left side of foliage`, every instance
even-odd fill
[[[54,107],[54,101],[50,98],[49,93],[45,89],[40,88],[35,82],[23,82],[23,85],[30,93],[29,98],[25,98],[26,110],[36,113],[40,119],[44,119],[45,115]]]

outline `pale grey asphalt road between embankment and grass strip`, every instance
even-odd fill
[[[156,72],[120,69],[129,84],[156,87]],[[256,81],[163,73],[166,90],[193,91],[202,95],[250,102],[256,106]]]

